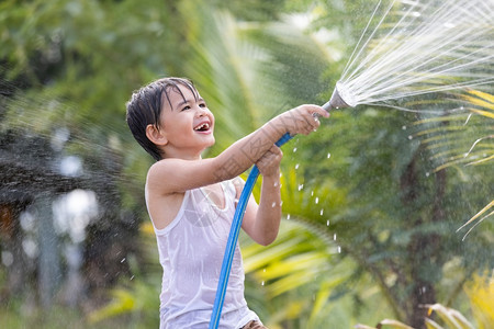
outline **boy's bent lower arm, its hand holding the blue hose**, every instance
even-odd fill
[[[268,246],[278,236],[281,222],[281,195],[280,195],[280,161],[281,150],[273,146],[256,163],[262,174],[261,195],[259,205],[254,196],[247,204],[243,229],[252,240],[262,246]],[[242,189],[237,188],[237,195]]]

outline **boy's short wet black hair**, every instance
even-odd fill
[[[127,113],[126,122],[131,128],[132,135],[137,143],[153,157],[156,161],[162,159],[159,148],[150,141],[146,136],[146,127],[155,125],[159,126],[159,117],[161,116],[162,102],[166,99],[172,107],[169,92],[178,92],[183,99],[184,95],[178,86],[188,88],[199,99],[198,91],[193,82],[186,78],[162,78],[141,88],[132,94],[131,100],[126,103]],[[171,109],[173,110],[173,109]]]

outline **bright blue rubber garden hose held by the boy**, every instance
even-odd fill
[[[280,147],[292,138],[289,133],[284,134],[276,146]],[[254,185],[259,177],[259,169],[254,166],[245,182],[244,190],[242,190],[238,198],[237,208],[229,229],[228,241],[226,242],[225,256],[223,257],[222,272],[220,273],[220,281],[217,283],[216,297],[214,299],[213,314],[211,315],[210,329],[216,329],[220,324],[222,315],[223,302],[225,302],[226,286],[228,285],[229,272],[232,270],[232,261],[235,253],[235,246],[237,245],[238,234],[240,231],[242,220],[244,218],[245,208],[249,201],[250,193],[252,193]]]

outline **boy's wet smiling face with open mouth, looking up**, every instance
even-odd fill
[[[165,137],[166,158],[198,159],[214,145],[214,115],[204,100],[188,87],[177,84],[162,95],[159,133]],[[171,105],[171,106],[170,106]]]

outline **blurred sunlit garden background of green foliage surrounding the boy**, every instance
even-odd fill
[[[378,2],[1,1],[0,328],[157,328],[153,159],[126,127],[132,92],[192,79],[216,117],[215,156],[325,103],[361,36],[385,54],[366,30],[374,10],[390,31],[448,1]],[[465,88],[334,110],[283,146],[279,237],[240,235],[246,298],[269,328],[493,328],[494,2],[472,3],[485,60],[414,87]]]

